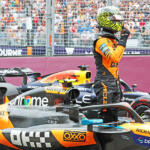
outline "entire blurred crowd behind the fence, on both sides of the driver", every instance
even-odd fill
[[[113,2],[123,13],[130,38],[150,44],[150,0]],[[96,35],[97,9],[106,5],[107,0],[55,0],[55,44],[91,44]],[[0,37],[22,45],[46,41],[46,0],[1,0],[0,11]],[[26,41],[29,37],[32,43]]]

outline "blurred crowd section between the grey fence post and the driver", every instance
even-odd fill
[[[104,6],[105,0],[57,0],[55,33],[68,33],[66,42],[71,45],[92,45],[97,25],[97,9]],[[59,36],[57,37],[59,40]]]

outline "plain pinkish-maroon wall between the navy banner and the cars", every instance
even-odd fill
[[[96,74],[93,56],[56,57],[1,57],[0,68],[29,67],[42,75],[89,65],[92,80]],[[150,92],[150,56],[124,56],[119,64],[120,78],[129,85],[137,84],[137,90]]]

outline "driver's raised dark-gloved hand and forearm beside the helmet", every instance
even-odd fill
[[[118,42],[118,45],[122,45],[124,47],[126,47],[126,43],[127,43],[127,39],[129,37],[130,31],[126,28],[123,28],[121,31],[121,37],[120,40]]]

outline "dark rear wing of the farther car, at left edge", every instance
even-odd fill
[[[41,73],[30,68],[0,68],[0,82],[6,82],[5,77],[23,77],[23,84],[27,84],[28,77],[30,81],[35,81],[40,76]]]

